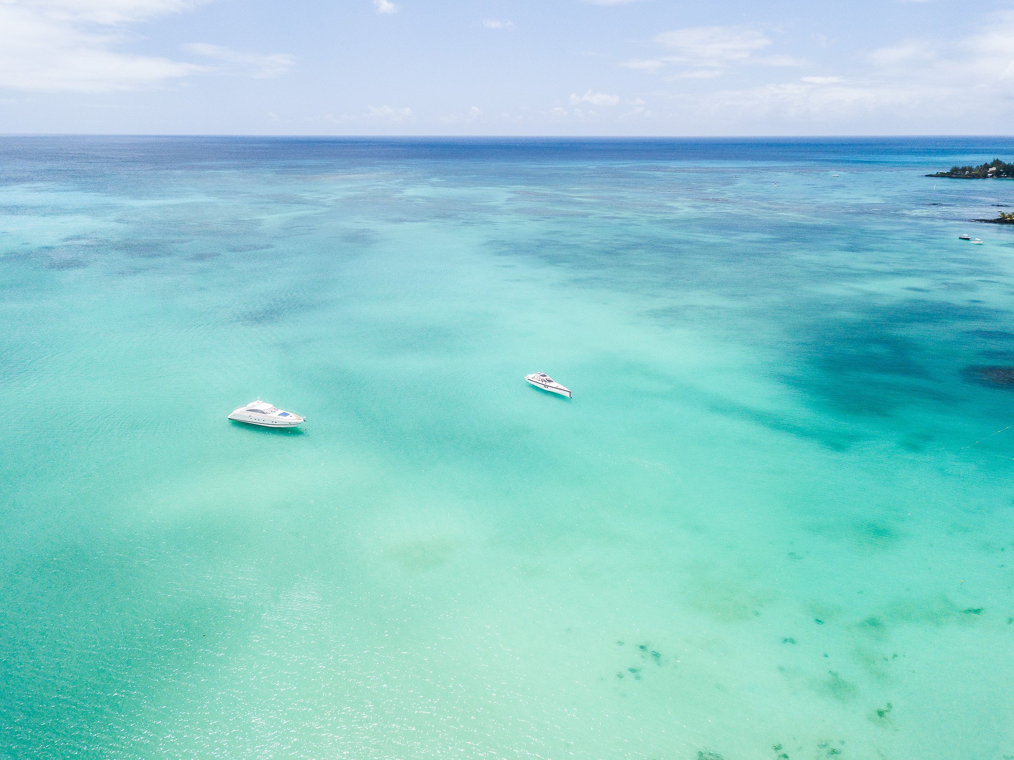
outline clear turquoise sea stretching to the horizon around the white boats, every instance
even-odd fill
[[[1011,154],[4,138],[0,756],[1014,756]]]

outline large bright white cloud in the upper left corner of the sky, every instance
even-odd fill
[[[187,0],[0,0],[0,87],[105,92],[156,86],[207,67],[120,53],[127,24],[187,10]]]

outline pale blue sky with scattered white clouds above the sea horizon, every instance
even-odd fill
[[[0,133],[1000,135],[1014,0],[0,0]]]

